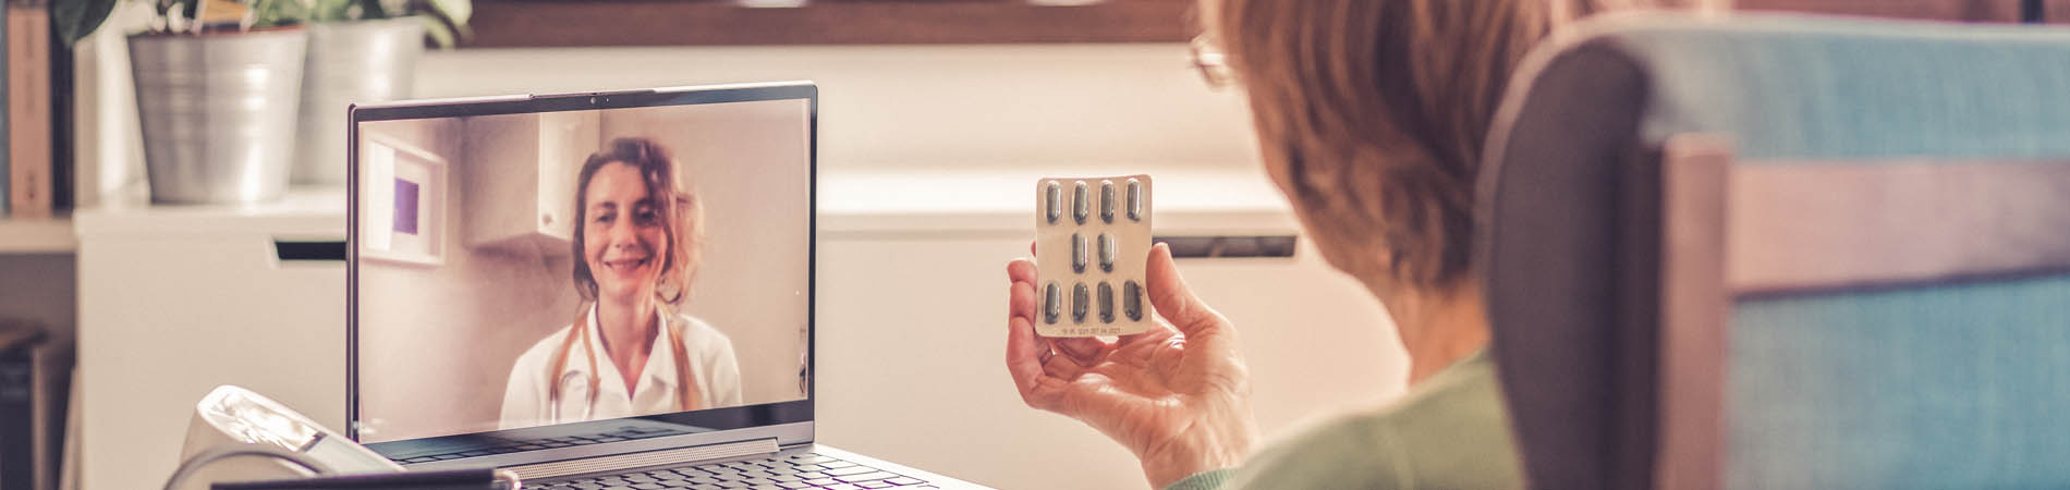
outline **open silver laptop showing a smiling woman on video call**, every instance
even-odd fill
[[[350,118],[356,442],[526,488],[979,488],[814,442],[811,83]]]

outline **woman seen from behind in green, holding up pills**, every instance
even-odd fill
[[[1254,451],[1236,327],[1157,246],[1149,298],[1167,323],[1114,343],[1037,337],[1035,265],[1008,263],[1006,368],[1021,397],[1128,447],[1157,488],[1521,486],[1468,263],[1474,172],[1519,58],[1557,25],[1604,8],[1203,0],[1199,64],[1209,83],[1246,91],[1265,170],[1323,258],[1387,306],[1410,354],[1410,393]]]

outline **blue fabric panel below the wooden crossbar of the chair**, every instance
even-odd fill
[[[2070,275],[1733,308],[1728,488],[2070,486]]]

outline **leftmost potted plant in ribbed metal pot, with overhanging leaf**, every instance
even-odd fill
[[[116,0],[56,2],[66,43],[93,33]],[[302,89],[292,0],[151,0],[151,27],[128,35],[153,203],[259,203],[286,194]]]

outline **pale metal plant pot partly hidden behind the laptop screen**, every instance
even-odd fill
[[[346,182],[346,110],[352,103],[408,99],[422,54],[422,19],[308,25],[296,184]]]

